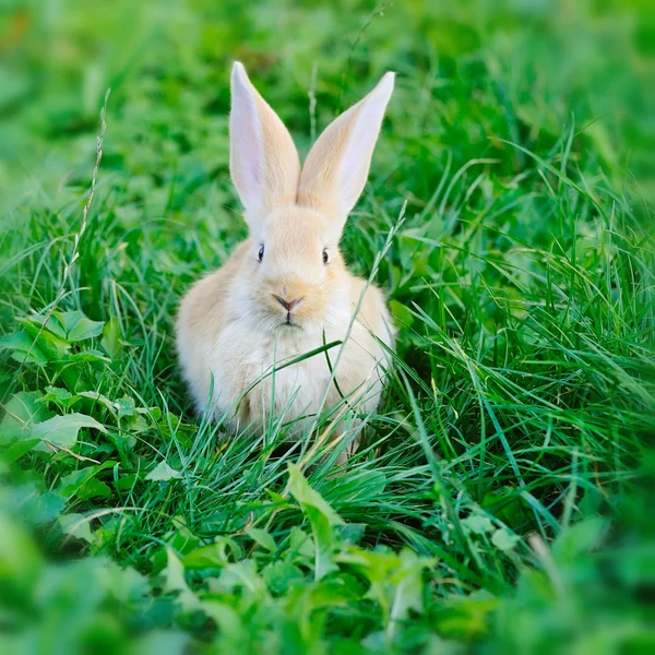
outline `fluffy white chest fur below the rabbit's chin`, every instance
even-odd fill
[[[323,337],[300,331],[295,334],[293,330],[262,341],[261,332],[233,323],[217,336],[206,364],[214,378],[215,413],[227,417],[231,429],[266,425],[273,417],[285,422],[313,417],[340,402],[341,393],[348,395],[371,386],[373,400],[368,405],[377,405],[381,384],[376,365],[381,352],[359,322],[355,322],[341,356],[342,346],[336,346],[305,357],[323,347]],[[325,343],[345,337],[346,331],[326,332]],[[331,379],[331,367],[338,390]]]

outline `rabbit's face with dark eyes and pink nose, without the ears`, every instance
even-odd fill
[[[274,332],[315,331],[347,303],[343,260],[329,222],[310,209],[273,212],[251,235],[247,312]]]

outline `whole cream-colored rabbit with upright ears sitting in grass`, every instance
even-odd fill
[[[380,402],[380,342],[393,347],[391,317],[380,290],[348,273],[338,241],[366,183],[393,82],[386,73],[342,114],[301,171],[288,131],[234,64],[230,170],[250,236],[193,285],[177,322],[198,408],[211,406],[233,431],[272,417],[305,426],[343,403],[342,394],[365,413]],[[284,366],[332,342],[343,345],[329,350],[330,364],[323,350]]]

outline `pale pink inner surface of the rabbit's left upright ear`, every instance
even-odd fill
[[[233,84],[229,131],[233,181],[246,210],[253,211],[261,200],[264,153],[255,100],[240,80]]]

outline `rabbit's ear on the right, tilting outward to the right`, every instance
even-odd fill
[[[298,204],[325,212],[341,222],[340,230],[366,184],[393,82],[394,73],[386,73],[362,100],[336,118],[302,167]]]

